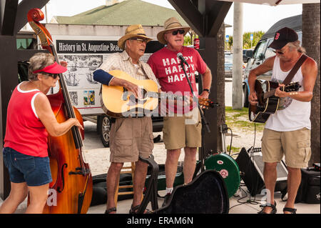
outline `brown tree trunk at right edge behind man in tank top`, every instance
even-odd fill
[[[311,149],[313,162],[320,162],[320,3],[302,6],[302,46],[317,62],[317,81],[311,102]]]

